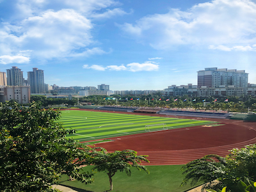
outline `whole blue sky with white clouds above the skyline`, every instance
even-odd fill
[[[205,67],[256,83],[256,0],[0,0],[0,70],[45,83],[163,90]]]

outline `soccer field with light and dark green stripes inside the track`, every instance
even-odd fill
[[[61,111],[61,118],[57,122],[63,123],[65,129],[76,129],[75,134],[67,136],[79,141],[141,133],[145,132],[145,125],[150,125],[147,126],[147,130],[161,131],[216,123],[206,120],[78,110]]]

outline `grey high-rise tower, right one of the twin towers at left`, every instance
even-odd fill
[[[45,93],[44,70],[33,68],[33,72],[28,72],[28,83],[31,93]]]

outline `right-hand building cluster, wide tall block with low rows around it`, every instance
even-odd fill
[[[256,95],[256,84],[248,83],[248,74],[244,70],[227,68],[205,68],[198,71],[197,85],[168,86],[166,96],[225,97]]]

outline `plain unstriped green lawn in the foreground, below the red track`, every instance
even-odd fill
[[[93,166],[87,166],[84,170],[91,170]],[[117,192],[182,192],[192,188],[191,186],[180,187],[184,175],[180,172],[182,165],[147,166],[150,174],[132,168],[131,177],[126,173],[117,172],[113,176],[113,191]],[[95,173],[95,182],[83,184],[79,181],[68,181],[67,175],[61,176],[61,184],[86,191],[102,192],[109,189],[108,175],[104,172]],[[198,185],[201,183],[198,183]]]

